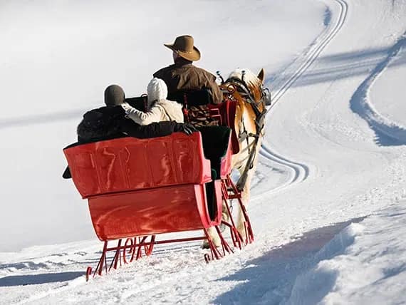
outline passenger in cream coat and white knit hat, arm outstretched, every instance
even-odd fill
[[[148,105],[146,112],[137,110],[127,103],[121,106],[129,118],[140,125],[148,125],[162,120],[175,120],[177,123],[183,123],[182,105],[167,100],[167,86],[160,78],[152,78],[148,84]]]

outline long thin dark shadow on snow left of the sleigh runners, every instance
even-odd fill
[[[71,281],[83,275],[84,272],[60,272],[4,276],[0,279],[0,287],[38,285]]]

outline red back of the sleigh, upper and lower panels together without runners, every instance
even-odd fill
[[[100,240],[203,229],[221,221],[221,182],[212,182],[200,133],[118,138],[63,151]],[[214,192],[208,200],[209,182]]]

